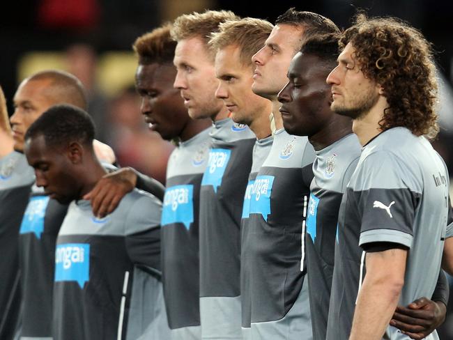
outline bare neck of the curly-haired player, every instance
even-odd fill
[[[360,144],[364,146],[382,132],[379,122],[382,120],[385,108],[388,107],[385,97],[380,96],[378,102],[368,112],[353,121],[353,132],[357,134]]]

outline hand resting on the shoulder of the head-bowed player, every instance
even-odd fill
[[[103,176],[84,199],[91,201],[93,215],[102,218],[116,209],[124,195],[135,188],[136,183],[137,175],[132,169],[119,169]]]

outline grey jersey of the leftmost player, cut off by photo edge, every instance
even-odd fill
[[[0,159],[0,339],[12,339],[20,310],[19,230],[31,185],[33,168],[21,153]]]

